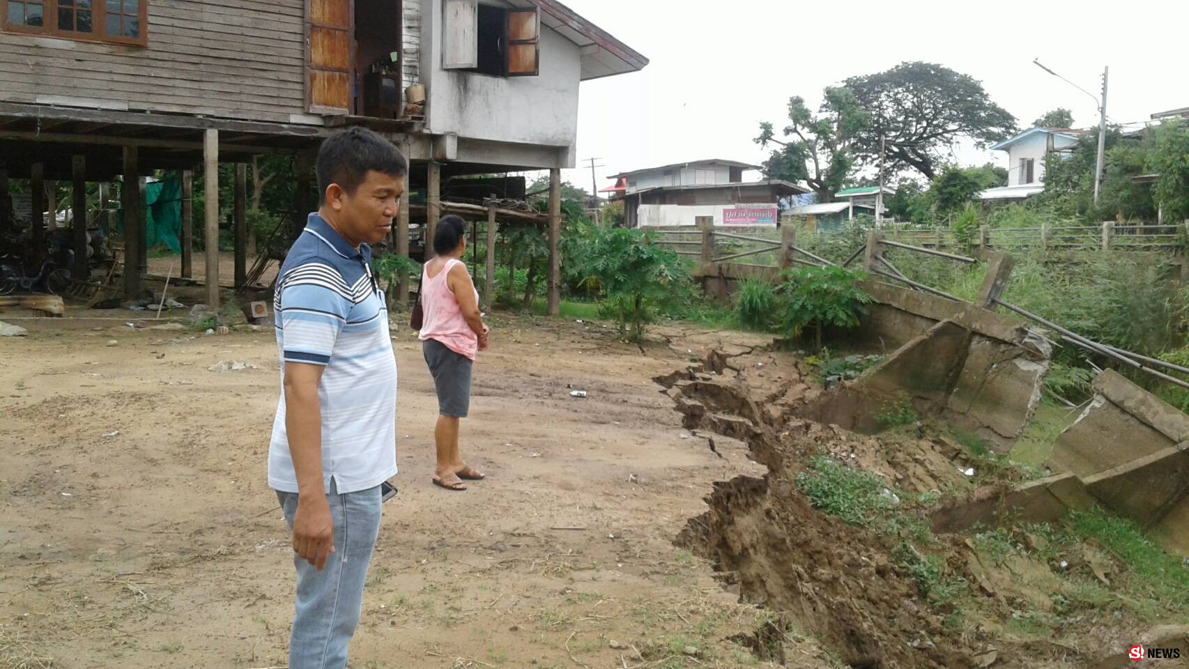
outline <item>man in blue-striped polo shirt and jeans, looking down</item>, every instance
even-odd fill
[[[396,359],[369,244],[384,240],[408,163],[352,128],[317,153],[319,210],[277,277],[282,395],[269,487],[292,529],[297,597],[290,669],[341,669],[359,623],[380,518],[396,474]]]

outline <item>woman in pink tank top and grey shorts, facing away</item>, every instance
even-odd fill
[[[470,467],[458,452],[459,418],[471,405],[471,366],[476,353],[487,348],[487,326],[479,314],[479,294],[463,263],[466,251],[466,222],[458,216],[443,216],[433,239],[435,258],[421,273],[421,352],[438,391],[438,446],[435,486],[452,491],[466,490],[468,481],[484,474]]]

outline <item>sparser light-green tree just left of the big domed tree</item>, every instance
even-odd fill
[[[788,125],[781,137],[770,122],[760,124],[755,143],[772,151],[765,173],[772,179],[804,181],[817,194],[818,202],[829,202],[842,188],[854,165],[851,141],[868,124],[867,113],[845,88],[826,88],[814,115],[805,99],[788,99]]]

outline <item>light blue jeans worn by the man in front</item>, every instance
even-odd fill
[[[297,493],[277,491],[289,528],[297,512]],[[319,572],[294,553],[297,598],[289,636],[290,669],[344,669],[347,643],[356,633],[364,605],[364,581],[379,534],[379,486],[338,493],[332,479],[326,494],[334,523],[334,553]]]

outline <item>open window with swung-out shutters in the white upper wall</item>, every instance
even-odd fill
[[[442,68],[489,76],[540,72],[537,10],[508,10],[477,0],[445,0]]]

